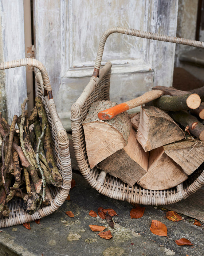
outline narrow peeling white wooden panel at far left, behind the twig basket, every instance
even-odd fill
[[[23,0],[12,1],[12,8],[10,1],[0,1],[0,12],[3,36],[3,59],[1,61],[25,58]],[[13,115],[21,113],[21,103],[27,96],[26,68],[11,68],[3,72],[8,122],[11,124]]]

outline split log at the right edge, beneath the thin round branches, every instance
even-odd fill
[[[164,146],[164,152],[190,175],[204,162],[204,143],[184,139]]]

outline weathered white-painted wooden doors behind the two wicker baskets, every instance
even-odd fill
[[[0,40],[4,47],[3,51],[0,49],[1,60],[26,56],[25,1],[29,0],[0,1]],[[124,26],[176,35],[178,0],[32,0],[32,7],[35,58],[48,71],[56,107],[68,131],[71,105],[91,78],[99,39],[106,29]],[[102,64],[108,60],[113,64],[111,100],[120,103],[143,94],[153,85],[170,86],[174,50],[175,45],[167,42],[110,35]],[[15,105],[20,112],[20,103],[26,97],[25,68],[4,74],[11,119],[11,108]]]

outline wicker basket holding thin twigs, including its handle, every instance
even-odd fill
[[[26,210],[24,210],[24,208],[21,206],[20,200],[13,198],[13,200],[8,203],[8,207],[11,211],[10,215],[8,218],[2,217],[0,219],[0,227],[19,225],[50,215],[63,204],[71,187],[72,171],[68,148],[68,137],[56,111],[46,68],[42,63],[40,63],[40,61],[35,59],[20,59],[0,63],[0,69],[21,66],[32,66],[39,69],[39,71],[36,73],[36,92],[37,95],[42,98],[44,108],[46,109],[48,123],[52,134],[54,159],[58,170],[62,175],[62,186],[60,188],[50,188],[50,198],[52,199],[51,204],[49,206],[40,208],[38,211],[35,211],[33,215],[27,214]]]

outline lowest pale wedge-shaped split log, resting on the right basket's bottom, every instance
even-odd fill
[[[177,186],[188,175],[164,152],[164,147],[149,152],[148,172],[137,181],[142,188],[163,190]]]

